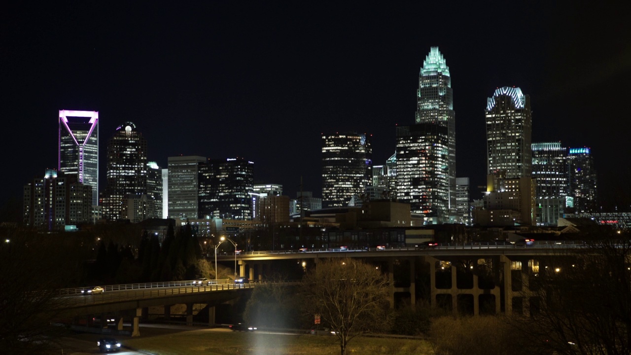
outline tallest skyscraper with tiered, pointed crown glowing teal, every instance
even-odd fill
[[[438,47],[431,47],[418,76],[416,123],[439,124],[447,128],[447,215],[456,214],[456,113],[451,76]],[[399,157],[397,157],[398,159]],[[442,184],[442,183],[441,183]],[[442,207],[441,207],[442,209]]]

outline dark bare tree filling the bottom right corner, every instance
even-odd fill
[[[631,354],[631,242],[602,238],[540,260],[512,325],[555,354]]]

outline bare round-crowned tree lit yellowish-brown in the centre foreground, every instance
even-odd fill
[[[357,335],[387,327],[388,284],[379,269],[351,258],[325,259],[303,280],[307,313],[339,339],[341,355]]]

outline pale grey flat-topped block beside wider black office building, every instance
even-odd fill
[[[168,217],[197,219],[199,211],[199,164],[205,157],[168,157]]]

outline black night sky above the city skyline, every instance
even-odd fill
[[[162,167],[180,154],[245,157],[256,181],[295,196],[303,176],[304,190],[321,196],[321,133],[372,134],[382,164],[396,124],[413,123],[418,72],[437,45],[452,76],[457,176],[474,191],[485,182],[487,97],[514,85],[531,95],[533,141],[591,147],[604,210],[631,208],[631,31],[622,9],[175,3],[3,8],[1,202],[21,199],[24,184],[57,166],[59,109],[99,111],[101,188],[107,140],[132,121]]]

